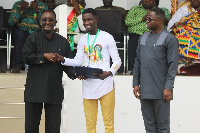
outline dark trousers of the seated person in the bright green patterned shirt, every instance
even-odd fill
[[[136,49],[138,46],[138,40],[140,35],[135,33],[129,33],[128,40],[128,70],[134,69],[135,57],[136,57]]]

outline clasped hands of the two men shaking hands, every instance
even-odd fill
[[[52,63],[65,62],[64,57],[59,55],[58,53],[44,53],[44,58]]]

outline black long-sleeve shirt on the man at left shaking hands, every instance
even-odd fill
[[[67,39],[54,33],[48,39],[42,31],[30,35],[23,47],[23,60],[29,65],[25,101],[37,103],[62,103],[64,90],[62,87],[63,71],[74,78],[74,68],[62,66],[60,62],[51,63],[44,58],[44,53],[59,53],[71,58]]]

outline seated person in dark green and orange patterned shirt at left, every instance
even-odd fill
[[[13,69],[11,72],[20,73],[22,62],[22,48],[26,38],[34,31],[39,31],[39,20],[41,12],[48,9],[47,5],[40,1],[32,0],[30,3],[26,0],[20,0],[14,3],[8,23],[14,27],[14,53]]]

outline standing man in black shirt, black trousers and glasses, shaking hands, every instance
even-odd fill
[[[41,14],[42,31],[30,35],[23,47],[23,60],[29,65],[25,85],[25,133],[38,133],[44,103],[45,132],[60,133],[61,108],[64,98],[62,76],[65,71],[74,79],[74,69],[62,66],[54,53],[72,57],[67,39],[54,32],[56,14]]]

